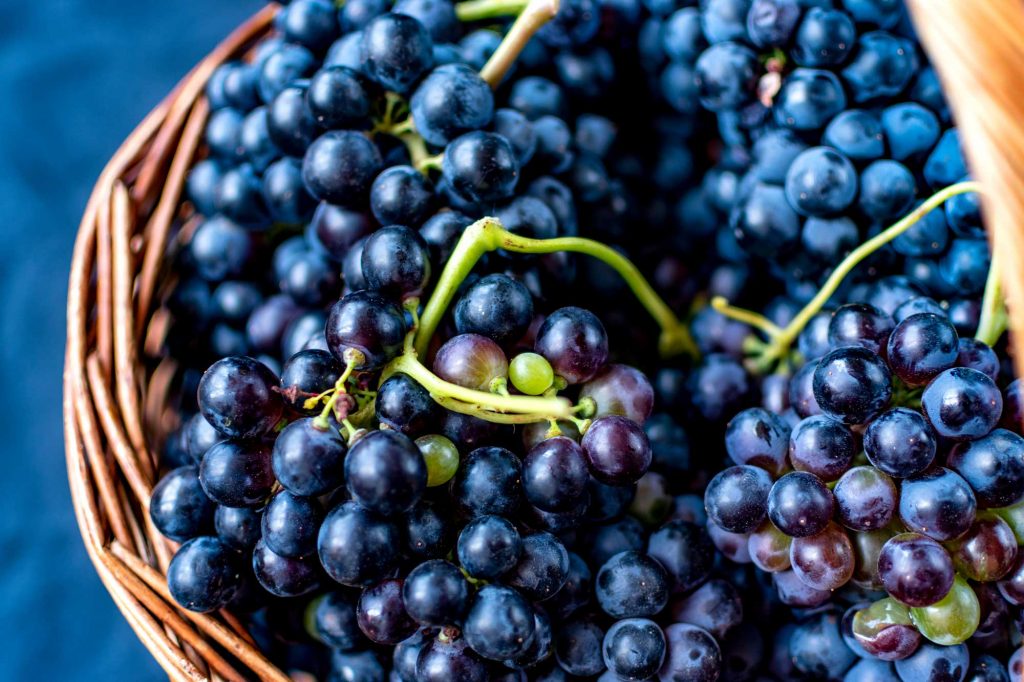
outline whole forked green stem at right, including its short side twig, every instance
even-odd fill
[[[790,322],[788,325],[785,326],[784,329],[776,327],[763,315],[760,315],[752,310],[745,310],[743,308],[729,305],[728,301],[723,298],[713,300],[712,307],[725,316],[750,325],[765,335],[767,338],[766,343],[761,343],[760,345],[744,344],[746,345],[746,349],[752,351],[751,357],[748,358],[749,368],[758,374],[764,374],[772,367],[777,366],[779,363],[784,364],[788,359],[790,350],[793,347],[794,342],[797,340],[797,337],[800,336],[802,331],[804,331],[804,328],[811,321],[811,318],[820,312],[821,308],[824,307],[825,303],[828,302],[828,299],[830,299],[833,294],[836,293],[836,290],[838,290],[840,285],[843,284],[843,280],[846,279],[846,275],[848,275],[854,267],[886,244],[889,244],[894,239],[910,229],[910,227],[915,225],[922,218],[949,199],[956,197],[957,195],[965,195],[972,191],[981,191],[981,185],[975,181],[967,181],[957,182],[956,184],[944,187],[926,199],[921,206],[910,211],[903,218],[851,251],[850,255],[844,258],[836,269],[833,270],[833,273],[828,275],[828,279],[825,280],[824,285],[822,285],[818,293],[815,294],[814,298],[812,298],[807,305],[805,305],[804,308],[797,313],[797,315],[792,322]],[[992,276],[991,272],[989,275]],[[997,285],[993,285],[993,288],[995,286]],[[997,298],[996,294],[993,294],[993,296]]]

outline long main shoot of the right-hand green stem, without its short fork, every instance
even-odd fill
[[[859,247],[850,252],[846,258],[833,270],[833,273],[828,275],[828,279],[822,285],[818,293],[812,298],[804,308],[797,313],[797,316],[785,326],[785,329],[781,330],[778,334],[773,335],[769,338],[768,343],[764,349],[758,353],[755,357],[755,364],[757,365],[757,370],[764,372],[767,371],[769,367],[778,360],[783,359],[790,352],[790,347],[793,345],[797,337],[807,326],[807,323],[816,315],[828,299],[833,297],[836,290],[839,289],[840,285],[843,284],[843,280],[846,275],[853,270],[862,260],[867,258],[869,255],[889,244],[894,239],[910,229],[915,225],[922,218],[928,215],[931,211],[935,210],[943,203],[949,199],[957,196],[965,195],[971,191],[981,191],[981,185],[978,182],[968,181],[968,182],[957,182],[956,184],[951,184],[948,187],[940,189],[928,199],[926,199],[921,206],[910,211],[903,218],[898,220],[896,223],[887,227],[885,230],[879,232],[871,239],[867,240]]]

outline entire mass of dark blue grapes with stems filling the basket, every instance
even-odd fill
[[[274,29],[167,300],[178,603],[331,680],[1019,675],[1024,402],[901,2]]]

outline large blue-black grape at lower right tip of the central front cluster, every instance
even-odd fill
[[[506,660],[526,651],[536,630],[532,609],[522,595],[509,587],[487,585],[476,593],[463,634],[481,656]]]

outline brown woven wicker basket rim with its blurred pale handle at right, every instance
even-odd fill
[[[966,152],[983,185],[1011,331],[1024,338],[1024,3],[908,0],[945,85]],[[185,174],[203,137],[204,85],[270,29],[275,5],[231,34],[174,89],[111,160],[79,228],[68,300],[63,378],[68,476],[89,556],[114,601],[175,680],[287,680],[230,613],[176,606],[165,570],[174,544],[150,521],[159,442],[174,417],[176,367],[160,359],[171,286],[172,224],[189,233]],[[1024,376],[1024,353],[1017,357]]]

